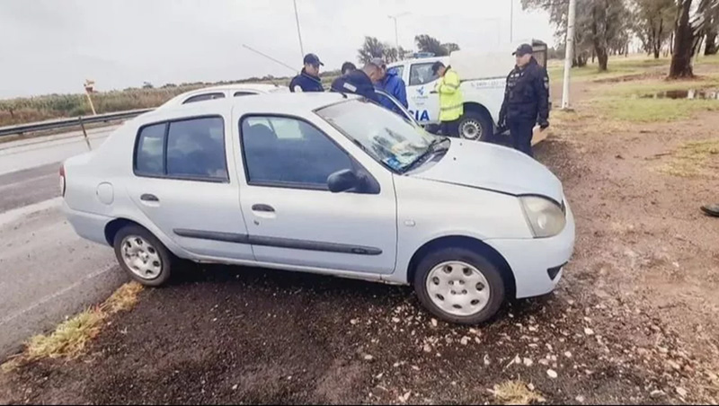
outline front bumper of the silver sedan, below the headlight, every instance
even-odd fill
[[[565,207],[567,223],[562,233],[554,237],[485,241],[510,265],[518,299],[546,295],[555,290],[562,278],[562,267],[574,251],[574,215],[568,203]],[[551,274],[555,278],[550,278]]]

